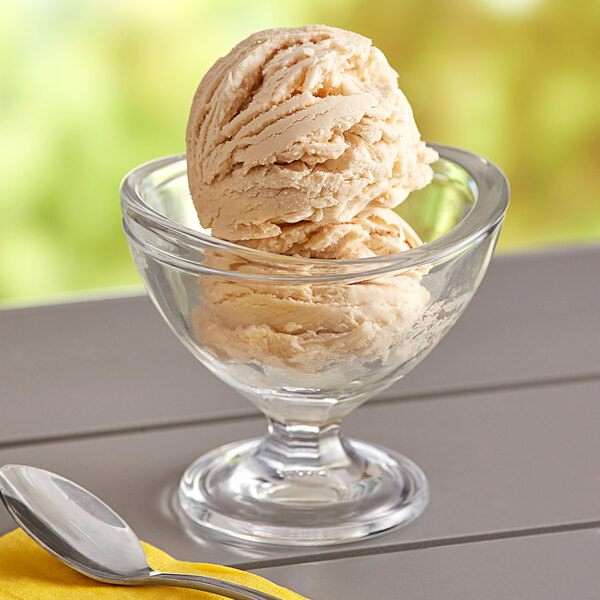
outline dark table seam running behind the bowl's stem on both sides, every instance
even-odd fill
[[[421,392],[407,394],[405,396],[395,396],[393,398],[374,398],[368,401],[369,406],[389,405],[400,402],[416,402],[425,400],[439,400],[440,398],[454,398],[457,396],[471,396],[482,393],[500,393],[512,392],[517,390],[526,390],[539,387],[572,385],[574,383],[591,383],[600,380],[600,373],[584,373],[582,375],[554,377],[548,379],[536,379],[530,381],[520,381],[511,383],[499,383],[492,385],[470,386],[460,389],[439,390],[433,392]],[[180,429],[185,427],[198,427],[204,425],[215,425],[231,423],[234,421],[246,421],[250,419],[264,418],[259,411],[248,409],[229,415],[220,415],[214,417],[200,417],[197,419],[186,419],[177,421],[167,421],[165,423],[147,423],[131,425],[128,427],[117,427],[90,430],[84,432],[72,432],[58,435],[39,436],[31,438],[21,438],[14,440],[0,441],[0,450],[10,448],[19,448],[24,446],[36,446],[42,444],[58,444],[62,442],[71,442],[85,439],[97,439],[101,437],[120,436],[129,434],[141,434],[151,431],[164,431],[168,429]]]

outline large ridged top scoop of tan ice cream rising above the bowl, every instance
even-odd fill
[[[384,55],[324,25],[262,31],[219,59],[186,145],[200,222],[234,241],[393,208],[429,183],[437,158]]]

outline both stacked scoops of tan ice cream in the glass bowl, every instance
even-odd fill
[[[201,224],[248,248],[308,259],[420,245],[392,209],[431,181],[437,155],[396,80],[370,40],[331,27],[273,29],[238,44],[206,74],[190,113],[188,180]],[[219,253],[207,266],[269,275]],[[421,277],[203,276],[194,329],[218,356],[242,362],[318,371],[385,360],[429,300]]]

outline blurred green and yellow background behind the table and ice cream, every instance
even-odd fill
[[[121,178],[185,150],[219,56],[307,23],[370,37],[424,139],[504,169],[501,251],[600,239],[597,0],[2,0],[0,299],[137,283]]]

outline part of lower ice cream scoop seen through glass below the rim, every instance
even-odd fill
[[[414,272],[352,284],[210,277],[193,311],[194,331],[223,359],[305,372],[341,360],[385,361],[429,300],[419,280]]]

